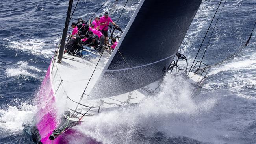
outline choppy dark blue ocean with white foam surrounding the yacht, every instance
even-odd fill
[[[89,18],[103,2],[80,0],[71,22]],[[115,5],[111,15],[114,21],[125,2],[119,0]],[[138,3],[128,1],[119,26],[125,28]],[[202,2],[182,42],[179,52],[187,57],[189,65],[218,3]],[[61,37],[68,1],[2,0],[0,4],[0,144],[33,144],[30,127],[36,113],[35,97]],[[98,14],[111,11],[114,4],[115,0],[109,0]],[[255,0],[227,0],[204,63],[211,65],[236,52],[247,41],[255,20]],[[74,128],[104,144],[253,144],[255,75],[256,30],[237,57],[210,69],[199,94],[193,95],[191,85],[181,76],[167,74],[163,90],[138,107],[104,112]],[[70,144],[88,143],[87,139],[69,139]]]

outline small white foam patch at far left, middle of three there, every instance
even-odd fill
[[[31,70],[33,73],[28,72],[28,70]],[[37,72],[42,72],[42,70],[35,68],[34,66],[29,66],[28,62],[26,61],[17,62],[17,64],[13,68],[7,68],[6,72],[7,72],[7,76],[23,75],[23,76],[31,76],[37,79],[42,79],[42,78],[39,78],[37,74],[34,74]]]

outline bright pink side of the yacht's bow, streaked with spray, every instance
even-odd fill
[[[69,139],[75,137],[76,139],[80,138],[82,143],[89,142],[89,144],[101,144],[100,142],[96,142],[93,138],[78,133],[74,129],[68,130],[63,135],[60,135],[53,140],[53,142],[49,139],[52,131],[56,129],[59,124],[59,120],[56,119],[55,96],[50,80],[50,68],[51,64],[47,69],[45,79],[39,89],[38,96],[41,103],[38,105],[39,111],[35,115],[36,127],[41,137],[40,141],[43,144],[68,144]]]

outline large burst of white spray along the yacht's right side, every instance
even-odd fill
[[[105,111],[76,126],[76,129],[105,144],[134,142],[134,133],[141,131],[145,131],[148,136],[158,131],[168,136],[186,135],[193,133],[186,127],[186,123],[191,123],[191,119],[201,113],[208,113],[216,102],[215,99],[194,102],[191,98],[191,85],[179,76],[167,75],[162,87],[159,94],[137,106]],[[176,126],[177,118],[186,119],[185,122],[179,122],[180,127]],[[170,131],[167,127],[174,129]],[[196,137],[192,134],[190,136]]]

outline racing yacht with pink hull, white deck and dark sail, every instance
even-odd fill
[[[67,143],[63,133],[102,111],[143,102],[161,91],[161,79],[173,69],[187,30],[202,0],[141,0],[116,48],[109,56],[63,54],[73,0],[69,8],[60,47],[50,62],[39,90],[38,112],[32,128],[40,144]],[[200,85],[204,75],[193,75]]]

